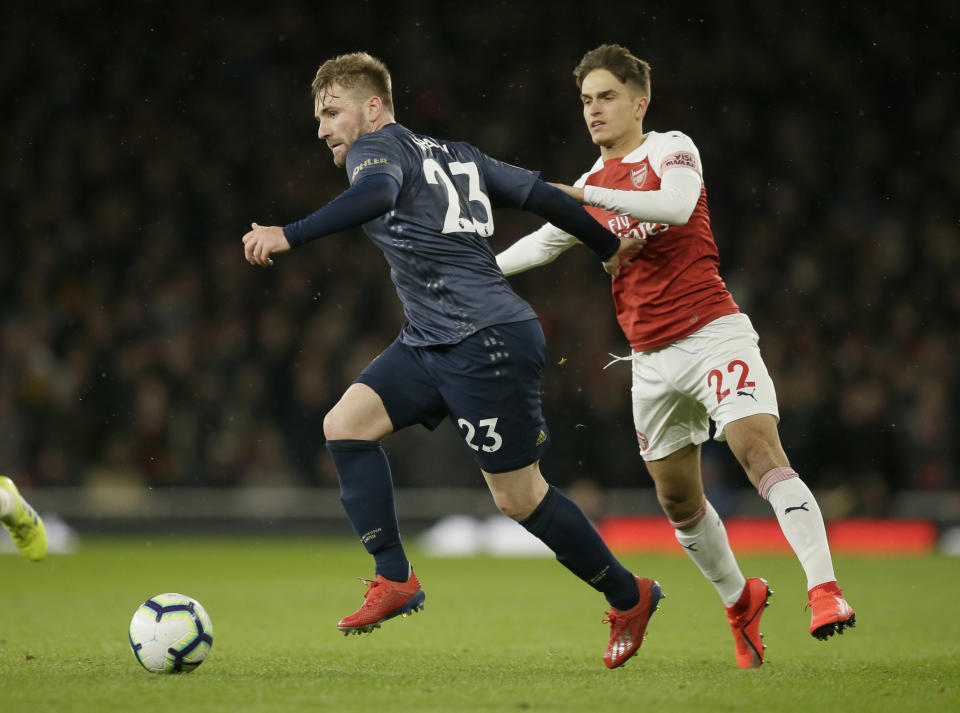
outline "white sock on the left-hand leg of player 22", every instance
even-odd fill
[[[694,561],[703,576],[713,582],[724,606],[732,607],[737,603],[747,581],[740,571],[723,521],[709,501],[703,501],[703,515],[684,522],[672,522],[677,542],[683,545],[687,555]],[[689,524],[691,523],[692,524]]]

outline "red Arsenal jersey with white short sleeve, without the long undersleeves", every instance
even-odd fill
[[[676,168],[692,169],[702,178],[693,141],[678,131],[650,132],[623,158],[597,161],[577,185],[655,191],[664,172]],[[641,223],[591,206],[586,210],[620,237],[647,239],[631,267],[613,279],[617,319],[635,351],[671,344],[717,317],[740,311],[720,279],[702,183],[700,199],[684,225]]]

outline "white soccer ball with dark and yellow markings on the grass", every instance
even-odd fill
[[[150,597],[133,613],[130,647],[151,673],[189,673],[213,646],[213,622],[196,599],[183,594]]]

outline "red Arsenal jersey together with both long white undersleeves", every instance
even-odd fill
[[[720,278],[700,154],[689,137],[649,132],[623,158],[597,159],[575,185],[604,226],[621,238],[648,241],[630,269],[613,279],[617,319],[635,351],[671,344],[739,311]],[[497,262],[510,275],[550,262],[577,242],[548,223]]]

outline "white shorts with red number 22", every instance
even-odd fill
[[[737,313],[673,344],[633,353],[633,423],[644,460],[703,443],[711,419],[718,441],[726,440],[731,421],[759,413],[780,419],[758,342],[750,318]]]

